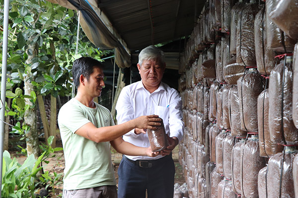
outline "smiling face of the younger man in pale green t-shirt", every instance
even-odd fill
[[[93,72],[90,74],[87,81],[87,89],[92,97],[99,97],[101,95],[102,88],[104,87],[104,74],[103,70],[99,67],[93,67]]]

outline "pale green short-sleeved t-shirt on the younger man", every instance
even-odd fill
[[[95,143],[75,134],[89,122],[97,128],[115,125],[110,111],[95,104],[96,108],[89,108],[71,99],[59,111],[58,124],[65,156],[65,190],[116,185],[110,143]]]

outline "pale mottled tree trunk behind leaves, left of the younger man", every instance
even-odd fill
[[[35,44],[28,45],[28,49],[32,50],[32,55],[29,55],[31,53],[28,53],[28,59],[26,60],[26,64],[31,65],[32,59],[36,56],[36,49]],[[34,87],[31,83],[33,76],[32,74],[28,74],[24,77],[24,92],[25,95],[30,95],[32,91],[34,91]],[[29,109],[25,111],[24,114],[24,123],[30,127],[29,131],[25,132],[26,136],[26,145],[27,145],[27,154],[28,156],[30,154],[34,154],[35,158],[37,158],[40,155],[39,150],[39,142],[38,142],[38,131],[37,131],[37,119],[36,119],[36,107],[30,99],[25,99],[25,104],[28,104],[30,106]]]

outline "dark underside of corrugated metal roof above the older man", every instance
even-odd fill
[[[98,0],[98,7],[133,51],[190,35],[205,1]]]

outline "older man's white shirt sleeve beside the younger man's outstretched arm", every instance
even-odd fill
[[[131,102],[131,96],[129,89],[124,87],[119,95],[116,104],[116,119],[118,124],[122,124],[124,122],[130,121],[134,119],[134,108]],[[127,136],[138,137],[139,135],[135,134],[135,129],[131,130],[127,134]]]

